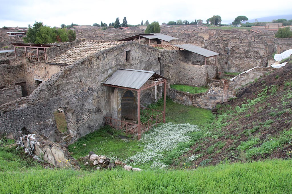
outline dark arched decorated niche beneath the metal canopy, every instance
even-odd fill
[[[122,120],[136,124],[136,98],[131,90],[126,90],[121,99],[121,117]]]

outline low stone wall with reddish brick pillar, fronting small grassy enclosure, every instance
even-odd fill
[[[209,89],[205,93],[190,94],[169,88],[168,95],[174,102],[179,104],[211,110],[216,104],[225,102],[231,97],[235,97],[235,90],[229,88],[229,81],[227,80],[211,80]]]

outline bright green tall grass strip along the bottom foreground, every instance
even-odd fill
[[[291,193],[291,164],[267,160],[186,171],[0,172],[0,193]]]

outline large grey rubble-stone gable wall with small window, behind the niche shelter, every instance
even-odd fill
[[[131,50],[131,63],[125,63],[125,50]],[[72,138],[84,136],[111,113],[111,88],[101,82],[117,68],[159,72],[158,58],[159,49],[135,42],[88,56],[54,74],[30,96],[0,106],[0,132],[18,138],[27,131],[58,140],[53,112],[61,107]]]

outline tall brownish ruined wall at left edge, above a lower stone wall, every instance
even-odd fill
[[[25,68],[22,60],[2,60],[0,65],[0,87],[25,82]]]

